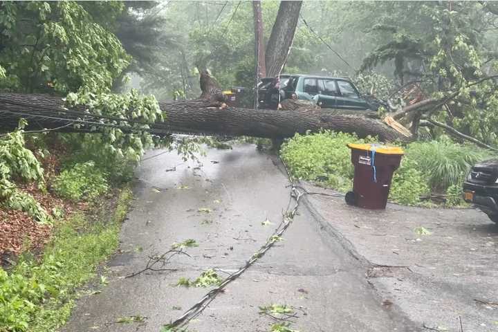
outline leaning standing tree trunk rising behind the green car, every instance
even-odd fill
[[[302,1],[281,1],[268,46],[266,46],[266,75],[275,77],[284,68],[293,43]]]

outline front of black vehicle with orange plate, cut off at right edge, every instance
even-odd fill
[[[498,223],[498,159],[474,165],[463,183],[463,199]]]

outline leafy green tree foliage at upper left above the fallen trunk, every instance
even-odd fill
[[[107,92],[129,64],[116,36],[75,1],[2,3],[0,30],[0,89]]]

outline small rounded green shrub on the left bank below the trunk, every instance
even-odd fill
[[[109,189],[106,178],[93,161],[78,163],[55,178],[53,190],[66,199],[91,201]]]

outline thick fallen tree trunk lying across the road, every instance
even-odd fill
[[[406,140],[400,133],[380,120],[362,116],[343,115],[340,111],[324,109],[294,111],[268,109],[242,109],[223,107],[215,100],[187,100],[160,102],[160,109],[167,120],[151,124],[150,131],[158,135],[168,133],[205,133],[229,136],[256,136],[262,138],[285,138],[295,133],[331,129],[356,133],[360,137],[378,136],[382,141]],[[358,111],[358,114],[361,112]],[[61,98],[50,95],[26,95],[0,93],[0,129],[14,129],[19,118],[27,118],[38,129],[60,127],[83,115],[82,108],[66,109]],[[74,131],[89,131],[93,127],[125,125],[133,123],[122,119],[85,114],[86,120],[77,122],[80,128]],[[8,120],[10,119],[10,120]],[[34,121],[32,121],[34,120]],[[89,123],[86,123],[89,122]],[[65,127],[65,131],[73,127]],[[130,129],[131,130],[131,129]],[[142,130],[142,129],[140,129]]]

